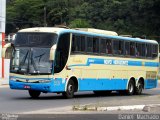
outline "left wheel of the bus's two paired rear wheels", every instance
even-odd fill
[[[130,80],[128,83],[128,89],[126,91],[127,95],[133,95],[135,92],[135,84],[133,80]]]

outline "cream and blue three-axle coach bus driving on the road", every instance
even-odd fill
[[[98,31],[98,32],[96,32]],[[3,48],[10,59],[11,89],[41,93],[112,91],[133,95],[157,86],[159,46],[155,40],[96,29],[37,27],[16,33]]]

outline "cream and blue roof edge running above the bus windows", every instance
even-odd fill
[[[104,38],[106,37],[106,38],[110,38],[110,39],[121,39],[121,40],[126,40],[126,41],[136,41],[136,42],[158,44],[158,42],[155,41],[155,40],[123,37],[123,36],[116,36],[116,35],[106,35],[106,34],[103,34],[103,33],[100,33],[100,32],[99,33],[92,32],[92,30],[81,30],[81,29],[77,30],[77,29],[66,29],[66,28],[58,28],[58,27],[26,28],[26,29],[19,30],[18,32],[46,32],[46,33],[57,33],[58,35],[62,34],[62,33],[67,33],[67,32],[69,33],[70,32],[70,33],[75,33],[75,34],[92,35],[92,36],[95,36],[95,37],[104,37]]]

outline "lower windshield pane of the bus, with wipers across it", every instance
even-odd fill
[[[51,74],[50,48],[17,47],[11,59],[10,72],[18,74]]]

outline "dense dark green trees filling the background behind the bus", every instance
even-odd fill
[[[44,8],[48,26],[66,24],[160,36],[160,0],[11,0],[7,3],[7,33],[44,26]]]

